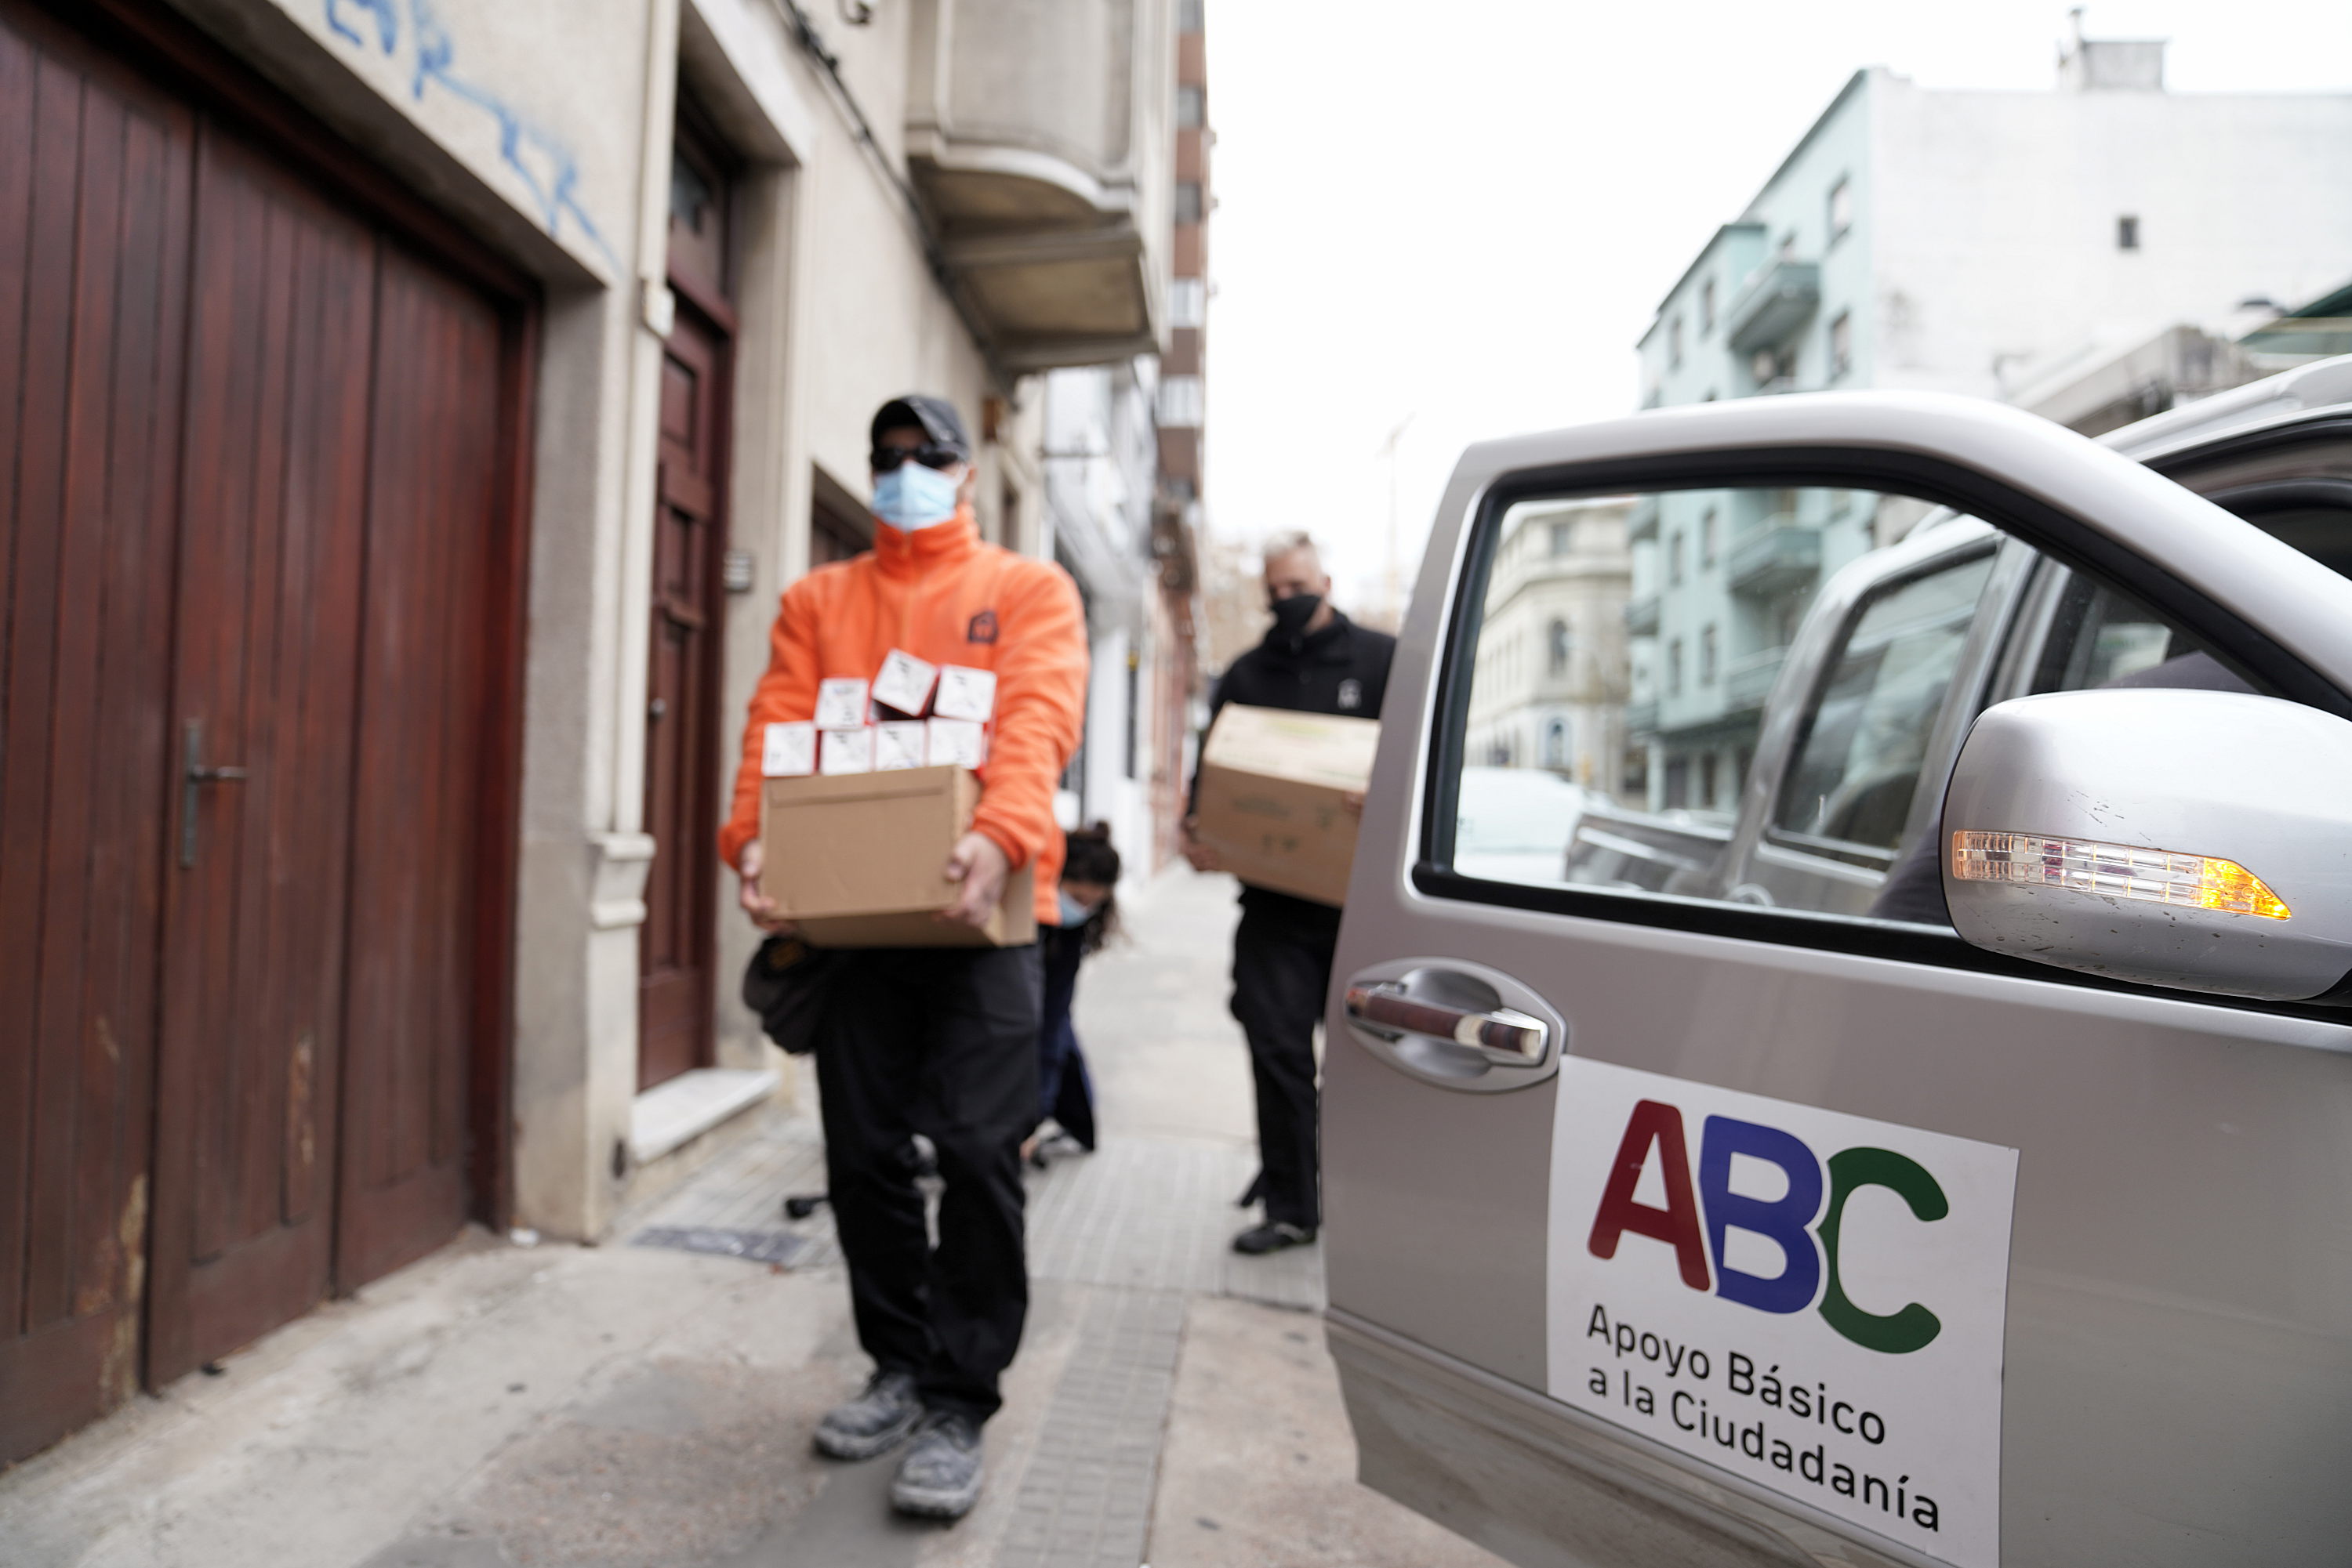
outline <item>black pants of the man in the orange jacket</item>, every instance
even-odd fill
[[[924,1406],[988,1420],[1021,1347],[1021,1140],[1037,1124],[1037,947],[856,952],[816,1037],[826,1185],[858,1345]],[[910,1140],[938,1150],[931,1246]]]

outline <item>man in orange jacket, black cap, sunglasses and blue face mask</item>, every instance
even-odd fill
[[[941,919],[985,924],[1007,877],[1030,865],[1037,919],[1051,924],[1063,853],[1054,785],[1087,703],[1077,585],[1051,562],[981,543],[971,444],[946,400],[882,404],[873,480],[875,548],[783,595],[720,853],[743,877],[753,922],[788,929],[760,896],[767,726],[814,717],[821,679],[873,679],[903,649],[997,677],[981,804],[943,870],[960,889]],[[997,1410],[997,1375],[1028,1312],[1018,1150],[1037,1121],[1037,945],[858,950],[830,985],[816,1030],[826,1175],[875,1373],[826,1413],[816,1448],[866,1460],[913,1436],[891,1505],[957,1519],[981,1495],[981,1425]],[[915,1190],[915,1133],[931,1140],[946,1180],[936,1248]]]

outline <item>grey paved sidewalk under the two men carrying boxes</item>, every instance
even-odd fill
[[[0,1474],[0,1568],[1472,1568],[1355,1483],[1317,1248],[1237,1258],[1232,884],[1181,865],[1080,978],[1101,1152],[1030,1178],[1028,1335],[955,1526],[809,1450],[863,1380],[814,1081],[607,1246],[470,1232]],[[649,1246],[750,1232],[786,1262]]]

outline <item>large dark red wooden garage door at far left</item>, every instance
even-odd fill
[[[0,0],[0,1460],[468,1213],[508,348]]]

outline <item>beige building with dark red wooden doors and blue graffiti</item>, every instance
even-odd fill
[[[1033,555],[1044,371],[1157,444],[1176,24],[0,0],[0,1460],[781,1093],[713,856],[776,595],[891,395]]]

